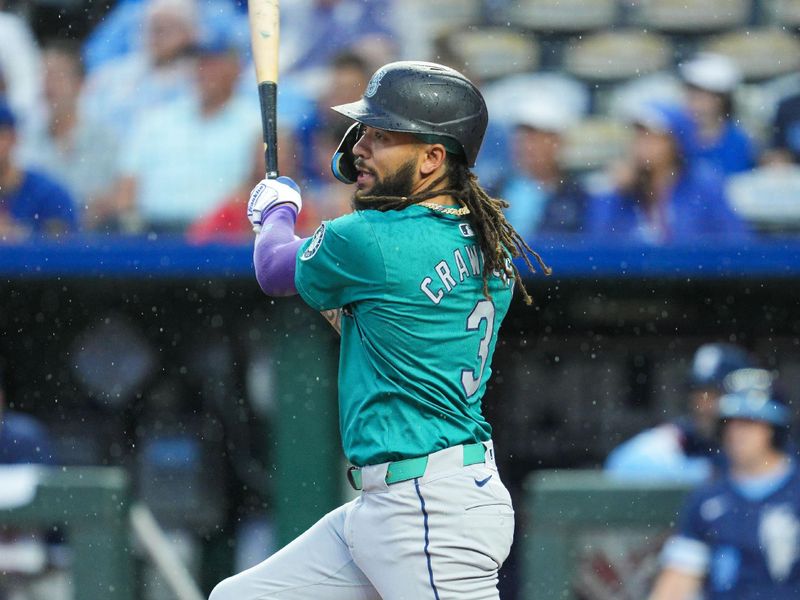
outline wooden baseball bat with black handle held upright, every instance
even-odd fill
[[[278,177],[278,40],[280,6],[278,0],[249,0],[250,43],[258,81],[261,130],[264,135],[264,161],[267,178]]]

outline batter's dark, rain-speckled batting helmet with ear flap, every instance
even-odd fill
[[[419,61],[384,65],[369,80],[361,100],[332,108],[357,122],[331,161],[333,174],[345,183],[356,179],[352,151],[359,123],[441,143],[473,167],[489,121],[486,102],[469,79],[455,69]]]

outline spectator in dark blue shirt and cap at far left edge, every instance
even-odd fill
[[[58,236],[75,228],[72,198],[59,183],[14,160],[16,118],[0,99],[0,243],[31,234]]]

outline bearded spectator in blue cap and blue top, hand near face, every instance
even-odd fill
[[[722,180],[691,161],[696,130],[683,109],[651,101],[630,122],[629,161],[613,174],[613,190],[589,203],[589,232],[652,245],[745,239],[748,231],[728,205]]]

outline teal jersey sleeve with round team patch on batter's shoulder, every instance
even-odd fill
[[[300,247],[296,260],[295,287],[316,310],[378,298],[385,289],[381,246],[359,212],[320,225]]]

